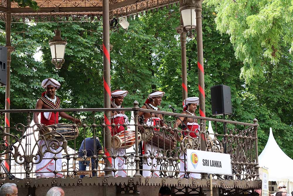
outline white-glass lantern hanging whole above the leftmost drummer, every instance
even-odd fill
[[[64,53],[65,47],[67,45],[66,38],[63,40],[60,36],[60,30],[55,29],[55,36],[52,41],[49,42],[51,55],[52,55],[52,63],[55,65],[56,69],[61,69],[62,64],[64,63]]]

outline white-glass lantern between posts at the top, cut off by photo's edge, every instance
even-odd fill
[[[196,29],[195,1],[180,0],[180,13],[186,30]]]

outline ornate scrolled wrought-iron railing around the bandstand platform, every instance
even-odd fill
[[[155,122],[154,117],[143,119],[138,113],[153,114],[154,110],[139,108],[137,102],[134,103],[133,108],[119,110],[129,116],[129,124],[127,120],[122,124],[107,123],[104,112],[111,111],[114,114],[113,108],[0,110],[1,178],[35,177],[39,174],[42,174],[42,177],[71,178],[83,174],[103,176],[111,173],[114,176],[188,178],[193,174],[183,169],[186,160],[184,155],[186,149],[195,149],[230,154],[233,176],[213,175],[214,179],[258,179],[256,119],[251,124],[156,111],[156,115],[161,115],[162,118],[156,122],[157,124],[152,125],[151,122]],[[10,113],[10,127],[4,127],[5,112]],[[62,135],[55,132],[59,129],[55,124],[51,126],[52,132],[46,132],[48,129],[44,125],[32,123],[34,112],[52,112],[51,115],[56,116],[55,122],[57,122],[57,112],[66,112],[82,120],[80,125],[71,122],[67,128],[72,132]],[[132,117],[130,117],[131,112],[133,112]],[[194,119],[200,128],[192,131],[187,125],[185,129],[186,118]],[[183,127],[177,127],[176,120],[177,124],[183,122]],[[204,120],[211,122],[209,127],[202,127]],[[62,122],[67,121],[62,120]],[[208,131],[211,128],[214,133]],[[122,132],[111,135],[111,129]],[[68,135],[76,135],[77,132],[78,137],[67,141]],[[202,137],[203,134],[205,137]],[[81,142],[85,138],[99,138],[103,147],[102,153],[96,148],[93,148],[93,154],[90,156],[79,151]],[[110,144],[108,141],[111,141]],[[96,140],[94,145],[95,143]],[[112,148],[113,145],[119,148]],[[180,165],[180,161],[183,166]],[[80,171],[79,164],[85,166],[87,163],[88,165],[91,163],[92,168],[86,167],[86,171]]]

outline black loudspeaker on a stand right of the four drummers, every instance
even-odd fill
[[[212,115],[232,113],[231,89],[229,86],[216,85],[211,87]]]

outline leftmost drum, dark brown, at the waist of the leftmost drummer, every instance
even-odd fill
[[[55,139],[58,141],[63,141],[65,138],[65,140],[69,141],[69,140],[74,140],[75,138],[77,138],[77,136],[79,134],[78,127],[73,128],[72,125],[65,124],[65,123],[58,123],[56,125],[57,126],[49,125],[49,126],[42,127],[42,135],[45,135],[46,133],[51,133],[51,134],[46,134],[44,136],[46,140],[54,140]],[[55,129],[55,127],[57,127],[57,128]]]

